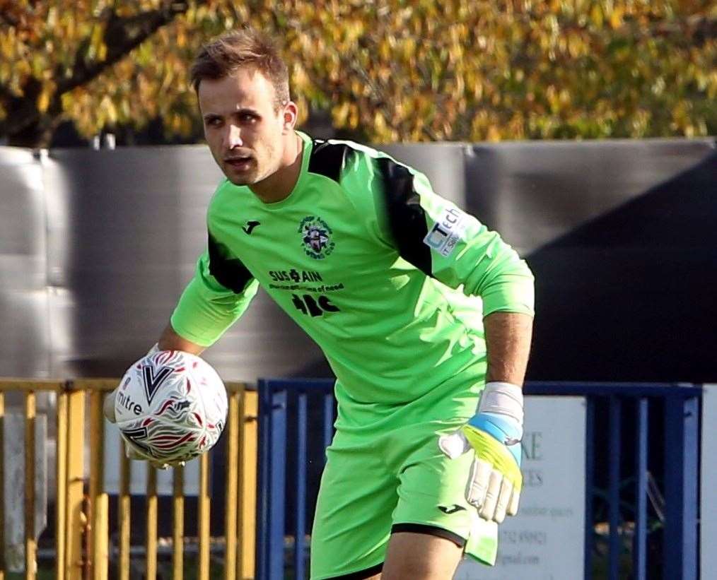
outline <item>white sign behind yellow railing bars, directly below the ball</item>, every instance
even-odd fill
[[[114,425],[105,421],[105,491],[118,493],[120,488],[120,453],[124,445],[120,443],[120,432]],[[143,496],[147,493],[147,462],[130,461],[130,494]],[[157,494],[172,495],[172,470],[157,471]],[[184,466],[184,495],[199,495],[199,458]]]

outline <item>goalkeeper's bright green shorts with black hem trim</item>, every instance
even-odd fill
[[[475,409],[475,406],[473,406]],[[473,455],[449,460],[437,440],[468,417],[398,426],[373,438],[342,437],[327,450],[311,536],[311,579],[370,569],[384,561],[391,529],[440,528],[465,540],[465,554],[495,564],[498,525],[465,501]]]

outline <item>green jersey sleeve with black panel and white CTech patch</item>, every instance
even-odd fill
[[[366,227],[383,244],[427,276],[483,299],[483,316],[495,311],[533,315],[533,274],[498,233],[432,190],[422,173],[388,156],[356,155],[342,184],[359,191]]]

